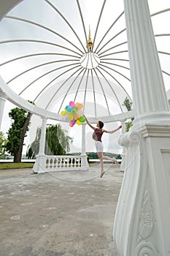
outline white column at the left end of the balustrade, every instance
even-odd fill
[[[42,117],[42,132],[39,141],[39,154],[36,156],[36,162],[33,167],[34,173],[45,173],[45,134],[46,134],[47,118]]]

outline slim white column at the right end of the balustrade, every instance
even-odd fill
[[[87,156],[85,154],[85,123],[82,123],[82,154],[81,154],[81,169],[82,170],[88,170],[89,165],[88,165],[88,160]]]

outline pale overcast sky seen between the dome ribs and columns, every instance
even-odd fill
[[[83,29],[82,26],[80,26],[80,23],[77,22],[77,5],[75,4],[76,1],[72,0],[72,5],[69,5],[68,8],[68,3],[70,3],[70,0],[62,0],[62,1],[55,1],[55,0],[51,0],[50,1],[52,4],[56,4],[59,10],[62,10],[62,13],[65,15],[67,20],[72,20],[72,27],[75,29],[76,28],[76,32],[79,32],[79,37],[82,39],[84,37],[83,34]],[[108,28],[110,26],[110,17],[114,16],[117,17],[118,14],[120,14],[123,10],[123,1],[119,1],[119,4],[115,4],[115,1],[113,0],[108,0],[107,1],[108,5],[106,5],[106,8],[104,9],[104,19],[101,20],[102,22],[100,23],[100,30],[98,30],[98,34],[96,36],[96,42],[100,41],[100,39],[102,38],[102,36],[104,35],[104,31],[106,31],[106,28]],[[115,8],[109,8],[109,4],[115,4]],[[39,11],[39,4],[41,4],[41,12]],[[80,1],[80,6],[82,7],[83,10],[83,17],[85,20],[85,29],[86,31],[88,31],[88,26],[90,24],[90,31],[91,31],[91,35],[92,37],[94,37],[95,35],[95,29],[97,26],[97,23],[95,23],[93,20],[98,20],[98,13],[101,10],[101,6],[103,4],[103,1],[98,0],[98,4],[96,5],[96,1],[92,1],[92,0],[85,0],[85,1]],[[149,0],[148,1],[149,7],[150,7],[150,13],[153,14],[155,12],[159,12],[161,10],[167,9],[170,7],[170,2],[169,0]],[[90,8],[89,8],[90,7]],[[95,12],[94,12],[95,10]],[[48,13],[48,15],[47,15]],[[50,15],[51,13],[51,15]],[[74,38],[71,38],[71,35],[69,34],[69,29],[68,29],[68,25],[64,25],[60,19],[58,19],[57,15],[52,15],[54,12],[52,12],[51,7],[47,7],[47,3],[45,1],[42,0],[24,0],[22,1],[14,10],[11,10],[11,12],[9,12],[9,15],[17,15],[20,18],[26,18],[26,19],[30,19],[30,20],[34,20],[34,22],[39,22],[42,24],[42,26],[49,26],[50,29],[56,29],[57,26],[57,32],[59,34],[64,34],[64,37],[69,38],[70,40],[73,40]],[[75,14],[75,15],[74,15]],[[155,15],[152,17],[152,26],[154,29],[154,34],[169,34],[169,12],[163,12],[163,14],[160,15]],[[109,17],[109,18],[107,18]],[[11,22],[12,21],[12,22]],[[117,26],[114,26],[115,31],[111,31],[111,33],[117,33],[118,31],[120,31],[121,29],[123,29],[125,26],[125,20],[123,20],[123,18],[120,18],[120,23],[117,23]],[[2,20],[1,24],[0,24],[0,37],[1,37],[1,41],[3,41],[4,39],[20,39],[21,36],[23,38],[27,38],[27,39],[42,39],[42,40],[48,40],[48,41],[53,41],[55,42],[55,37],[53,36],[53,34],[50,34],[49,31],[47,31],[47,33],[44,33],[42,29],[38,29],[36,30],[34,28],[34,26],[31,26],[30,24],[28,24],[28,26],[26,27],[27,29],[25,29],[25,27],[23,26],[22,23],[20,23],[18,20],[11,20],[10,18],[7,20]],[[21,31],[21,34],[20,34]],[[74,35],[75,37],[75,35]],[[108,38],[107,38],[108,37]],[[104,40],[109,39],[109,34],[107,34],[106,38],[104,38]],[[121,40],[125,39],[125,34],[122,34]],[[75,39],[76,40],[76,39]],[[63,43],[63,41],[61,39],[58,39],[57,41],[58,43]],[[83,42],[83,40],[82,40]],[[117,42],[118,43],[118,39]],[[123,41],[121,41],[123,42]],[[161,52],[166,52],[169,53],[169,44],[170,43],[170,37],[167,36],[163,36],[163,37],[156,37],[156,44],[158,47],[158,50]],[[103,43],[104,44],[104,43]],[[108,43],[108,47],[109,47],[109,43]],[[74,46],[70,46],[70,48],[72,50],[74,50]],[[81,47],[80,47],[81,48]],[[41,51],[45,51],[48,52],[49,50],[51,50],[52,48],[48,48],[47,46],[42,46],[42,48],[39,48],[39,46],[33,46],[33,45],[29,45],[29,47],[26,47],[26,43],[25,45],[20,45],[20,44],[15,44],[15,47],[12,46],[11,44],[8,45],[1,45],[0,46],[0,54],[1,54],[1,61],[7,61],[9,59],[15,58],[16,56],[19,56],[20,53],[24,54],[28,54],[28,53],[34,53],[36,52],[41,52]],[[31,51],[30,51],[31,50]],[[120,49],[121,50],[121,49]],[[59,51],[59,50],[58,50]],[[78,52],[78,50],[76,50]],[[121,53],[119,53],[121,54]],[[117,55],[120,57],[120,55]],[[121,55],[122,56],[122,55]],[[160,61],[161,61],[161,68],[168,74],[170,74],[170,65],[169,65],[169,55],[161,53],[159,55],[160,57]],[[127,58],[127,53],[125,53],[125,58]],[[55,60],[53,57],[51,57],[50,60]],[[63,59],[64,60],[64,59]],[[0,69],[0,74],[1,77],[7,82],[10,79],[12,79],[14,76],[18,75],[18,72],[24,72],[24,70],[32,67],[33,62],[35,64],[40,64],[42,61],[42,59],[29,59],[26,61],[26,59],[23,59],[22,61],[18,61],[17,64],[15,65],[14,63],[10,63],[8,65],[4,65],[1,67]],[[47,56],[43,56],[43,61],[49,61]],[[2,62],[2,63],[3,63]],[[125,62],[125,61],[124,61]],[[117,62],[118,64],[122,63],[122,62]],[[57,64],[50,64],[50,68],[53,69],[54,67],[59,67],[56,66]],[[125,67],[128,67],[128,64],[124,64]],[[50,70],[50,69],[48,69]],[[117,67],[117,72],[121,72],[120,70],[122,70],[120,67]],[[28,83],[31,83],[31,80],[36,79],[37,77],[37,72],[39,72],[40,75],[42,75],[45,72],[45,67],[42,66],[39,70],[34,69],[32,70],[30,73],[26,73],[22,76],[22,78],[17,78],[14,81],[12,81],[11,83],[9,83],[9,86],[11,87],[11,89],[14,89],[15,92],[19,93],[20,91],[22,91],[23,89],[23,81],[25,83],[26,81],[26,85]],[[129,72],[127,69],[123,70],[123,74],[125,76],[129,75]],[[53,79],[53,74],[50,74],[50,79]],[[65,79],[67,77],[67,74],[65,74]],[[111,80],[111,78],[108,75],[108,79]],[[128,91],[128,94],[132,97],[132,93],[131,93],[131,82],[129,82],[127,79],[125,80],[125,78],[123,78],[122,76],[120,76],[117,73],[117,79],[120,81],[121,85],[124,86],[125,90]],[[170,78],[169,75],[167,74],[163,74],[163,79],[165,82],[165,87],[166,87],[166,91],[168,91],[170,89]],[[64,80],[64,77],[62,77],[61,80]],[[61,83],[60,80],[60,83]],[[42,78],[41,80],[37,81],[36,86],[34,86],[34,84],[32,86],[30,86],[30,90],[28,89],[27,91],[23,92],[22,97],[24,99],[28,99],[28,97],[32,97],[35,94],[39,93],[39,90],[42,89],[44,83],[47,83],[47,80],[45,80],[45,78]],[[116,84],[116,83],[115,83]],[[34,87],[33,87],[34,86]],[[52,89],[55,90],[55,86],[57,86],[57,83],[53,83],[53,85],[50,87],[51,91]],[[107,85],[104,85],[105,89],[108,90],[107,91],[107,97],[109,98],[109,89],[107,89]],[[116,87],[116,86],[115,86]],[[109,88],[109,87],[108,87]],[[123,99],[125,96],[121,95],[123,94],[123,91],[119,91],[120,87],[117,86],[117,89],[115,89],[117,91],[117,94],[119,94],[120,96],[120,102],[123,102]],[[81,90],[79,90],[80,95],[79,95],[79,100],[80,102],[82,102],[82,97],[81,97]],[[49,92],[50,93],[50,92]],[[63,87],[63,92],[62,94],[60,94],[60,97],[62,97],[63,94],[66,93],[66,89],[64,89]],[[89,89],[89,91],[87,90],[87,95],[88,97],[90,97],[90,95],[92,95],[92,89]],[[39,99],[39,105],[43,105],[45,104],[45,100],[47,99],[47,91],[45,91],[45,94],[42,95],[43,97],[41,99]],[[72,93],[67,95],[68,97],[66,97],[65,101],[63,102],[63,105],[67,102],[69,102],[69,100],[72,100]],[[58,95],[56,95],[56,97],[58,97]],[[102,95],[102,91],[98,91],[97,94],[98,97],[98,106],[100,107],[100,112],[102,111],[107,111],[105,106],[104,106],[104,97]],[[113,113],[118,113],[119,109],[118,109],[118,105],[117,102],[114,101],[112,102],[112,100],[108,99],[109,102],[109,108],[111,105],[114,105],[113,108]],[[122,103],[121,103],[122,104]],[[10,119],[8,117],[8,113],[9,110],[15,108],[15,105],[12,105],[12,103],[10,102],[6,102],[5,108],[4,108],[4,116],[3,116],[3,122],[2,122],[2,126],[1,126],[1,130],[6,133],[7,130],[10,127]],[[55,105],[53,103],[53,105],[51,105],[51,110],[55,112],[55,110],[57,110],[58,105]],[[88,112],[88,116],[93,116],[93,107],[88,108],[87,112]],[[112,111],[112,110],[111,110]],[[86,113],[86,112],[85,112]],[[41,118],[37,117],[37,116],[33,116],[31,118],[31,127],[30,130],[28,132],[28,137],[26,138],[26,146],[24,146],[23,149],[23,154],[26,153],[26,148],[28,146],[29,143],[31,143],[34,140],[35,137],[35,131],[36,131],[36,127],[41,126]],[[52,120],[47,120],[47,124],[56,124],[56,121],[52,121]],[[117,128],[117,126],[120,125],[120,122],[115,121],[112,124],[105,124],[104,129],[115,129]],[[71,145],[71,151],[72,152],[80,152],[81,151],[81,127],[80,126],[74,126],[74,127],[69,127],[69,124],[66,123],[62,123],[62,127],[63,129],[66,129],[69,136],[74,138],[74,142],[73,145]],[[94,142],[92,140],[92,130],[90,129],[90,127],[86,127],[86,151],[95,151],[95,147],[94,147]],[[104,135],[104,151],[111,151],[114,153],[120,153],[122,151],[122,148],[118,145],[117,143],[117,139],[119,138],[121,132],[115,132],[112,135]]]

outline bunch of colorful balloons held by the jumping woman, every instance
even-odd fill
[[[82,124],[85,122],[85,117],[83,116],[82,104],[79,102],[69,102],[69,105],[61,111],[61,116],[63,116],[63,121],[69,121],[69,126],[74,127],[74,124]]]

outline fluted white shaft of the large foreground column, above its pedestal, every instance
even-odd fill
[[[169,118],[161,65],[147,0],[124,0],[131,83],[140,124]]]

